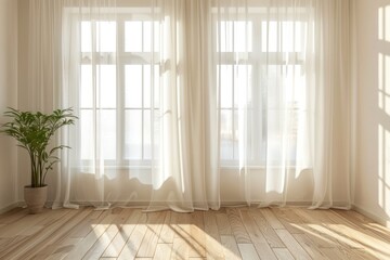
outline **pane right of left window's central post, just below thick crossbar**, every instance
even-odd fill
[[[142,107],[142,65],[125,66],[125,105]]]

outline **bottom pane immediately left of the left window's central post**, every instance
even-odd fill
[[[101,155],[104,159],[116,159],[116,112],[101,109]]]

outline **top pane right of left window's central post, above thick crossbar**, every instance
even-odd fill
[[[125,51],[142,52],[142,22],[125,22]]]

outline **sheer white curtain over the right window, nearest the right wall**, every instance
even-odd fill
[[[349,208],[349,1],[216,1],[212,17],[235,199]]]

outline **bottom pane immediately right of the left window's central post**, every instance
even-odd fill
[[[142,159],[142,110],[125,112],[125,158]]]

